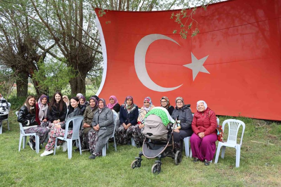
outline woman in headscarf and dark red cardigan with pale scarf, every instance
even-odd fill
[[[47,104],[47,95],[41,95],[39,98],[37,104],[35,105],[35,111],[36,111],[36,122],[38,125],[41,125],[42,127],[48,127],[49,122],[47,118],[47,110],[48,110],[48,104]]]

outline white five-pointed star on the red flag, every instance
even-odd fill
[[[199,71],[210,74],[209,71],[206,70],[206,68],[203,66],[203,64],[204,64],[205,60],[208,58],[208,56],[205,56],[204,58],[201,58],[200,60],[198,60],[191,52],[191,63],[183,65],[192,70],[193,81],[194,81],[195,77],[197,76],[197,74],[199,73]]]

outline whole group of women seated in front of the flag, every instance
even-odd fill
[[[194,162],[200,160],[205,161],[205,165],[209,165],[209,161],[214,157],[215,141],[217,140],[214,111],[207,107],[205,101],[198,101],[197,112],[193,117],[190,105],[185,105],[182,97],[175,99],[174,108],[169,99],[164,96],[160,99],[160,106],[166,108],[173,119],[178,116],[177,122],[180,125],[174,130],[174,151],[182,151],[183,139],[191,136],[190,144]],[[36,104],[35,98],[28,96],[20,108],[18,122],[22,123],[26,133],[36,132],[39,135],[40,143],[45,141],[49,133],[45,151],[41,154],[41,156],[47,156],[53,153],[56,137],[63,137],[65,133],[67,133],[67,137],[71,137],[72,124],[65,132],[67,119],[84,115],[79,132],[81,149],[89,150],[91,152],[89,158],[94,159],[101,155],[103,146],[114,133],[113,113],[117,113],[119,117],[115,132],[117,143],[128,144],[133,138],[139,147],[144,141],[142,132],[145,115],[154,107],[150,97],[144,98],[143,106],[139,111],[132,96],[127,96],[125,102],[120,106],[113,95],[110,96],[109,103],[106,105],[105,99],[97,96],[91,96],[88,102],[81,93],[69,100],[66,95],[62,96],[61,93],[56,92],[50,103],[48,103],[46,95],[42,95]],[[35,138],[30,137],[28,144],[34,150]],[[65,142],[58,141],[57,144],[62,145],[63,151],[67,150]],[[79,148],[74,151],[79,151]]]

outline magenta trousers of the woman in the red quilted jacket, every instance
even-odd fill
[[[200,161],[213,160],[217,140],[218,136],[216,134],[209,134],[204,138],[200,138],[197,134],[193,133],[190,137],[192,157],[198,158]]]

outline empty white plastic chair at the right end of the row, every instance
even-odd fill
[[[245,130],[245,123],[240,121],[240,120],[237,120],[237,119],[227,119],[227,120],[224,120],[224,122],[222,124],[223,130],[224,130],[225,123],[228,124],[227,141],[226,142],[220,142],[219,141],[217,153],[216,153],[216,158],[215,158],[214,163],[215,164],[218,163],[219,151],[220,151],[221,147],[222,147],[221,158],[224,158],[224,152],[225,152],[226,147],[233,147],[233,148],[236,149],[236,167],[239,167],[239,164],[240,164],[240,148],[241,148],[241,145],[242,145],[242,139],[243,139],[243,134],[244,134],[244,130]],[[237,134],[238,134],[239,127],[241,125],[243,127],[241,140],[240,140],[240,143],[237,144]]]

